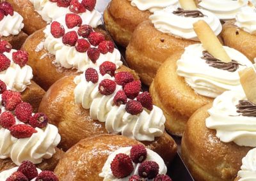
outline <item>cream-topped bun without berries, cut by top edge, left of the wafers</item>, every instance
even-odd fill
[[[178,4],[178,0],[112,0],[104,11],[104,23],[116,43],[127,47],[138,24],[156,10]]]

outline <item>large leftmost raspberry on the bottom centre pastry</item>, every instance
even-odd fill
[[[111,171],[116,178],[124,178],[134,170],[132,160],[126,154],[117,154],[110,164]]]

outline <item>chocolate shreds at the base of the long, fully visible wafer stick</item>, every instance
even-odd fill
[[[202,59],[206,60],[206,63],[209,64],[209,66],[213,68],[223,69],[230,72],[234,72],[239,68],[239,64],[237,61],[231,61],[231,62],[223,62],[219,59],[216,59],[214,56],[212,56],[209,52],[203,51],[203,57]]]

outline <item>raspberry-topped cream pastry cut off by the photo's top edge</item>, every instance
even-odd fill
[[[6,0],[14,10],[24,18],[24,31],[32,34],[46,27],[47,24],[67,13],[79,13],[88,20],[86,24],[93,27],[101,24],[101,15],[94,10],[96,1],[78,0],[51,1],[51,0]],[[90,4],[90,5],[88,5]]]

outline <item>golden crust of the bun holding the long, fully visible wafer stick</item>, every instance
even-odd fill
[[[176,62],[181,54],[168,58],[150,85],[153,103],[163,110],[166,117],[166,130],[179,136],[182,136],[189,117],[198,108],[212,102],[212,98],[196,94],[184,77],[177,75]]]

